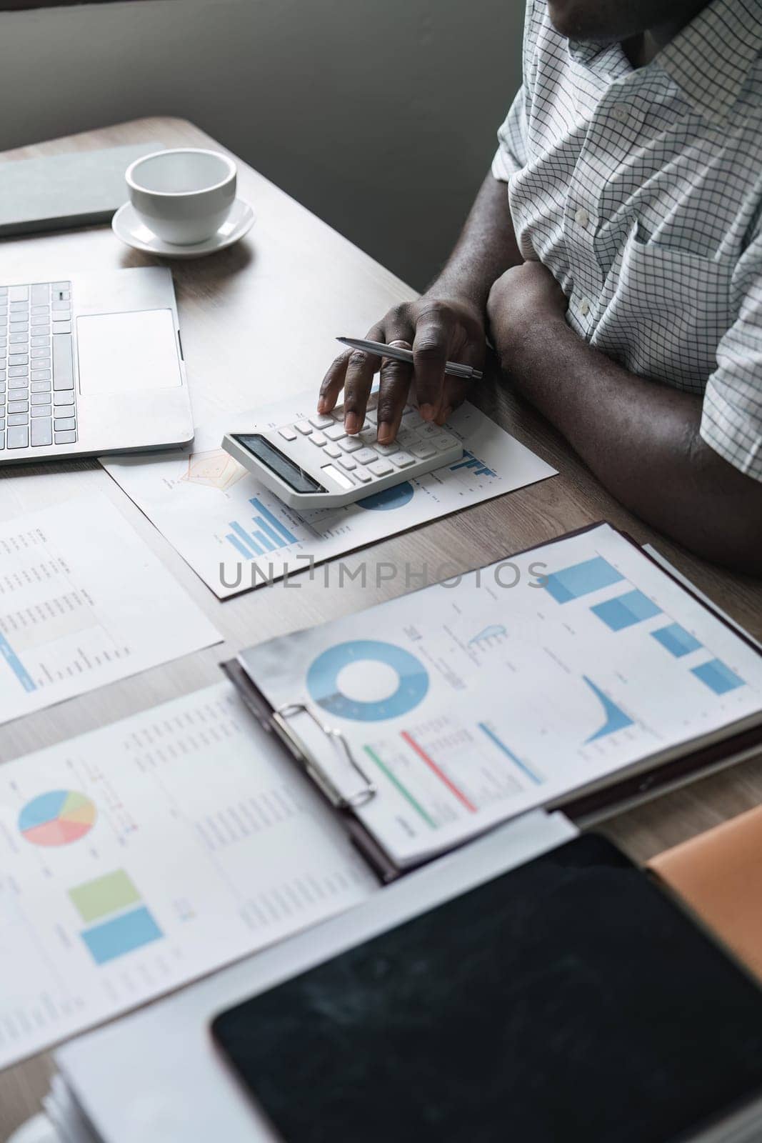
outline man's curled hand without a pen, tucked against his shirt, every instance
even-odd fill
[[[542,262],[524,262],[497,279],[487,301],[492,344],[506,371],[513,352],[532,327],[550,334],[553,325],[566,323],[568,301]]]

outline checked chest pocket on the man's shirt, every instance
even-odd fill
[[[635,227],[607,280],[591,343],[632,373],[704,392],[733,321],[733,266],[647,241]]]

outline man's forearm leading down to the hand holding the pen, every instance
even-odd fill
[[[492,282],[522,262],[508,208],[508,189],[488,174],[432,293],[466,298],[484,311]]]

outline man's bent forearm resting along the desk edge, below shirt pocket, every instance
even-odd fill
[[[627,507],[717,562],[762,573],[762,485],[699,437],[701,399],[637,377],[559,315],[510,349],[518,387]]]

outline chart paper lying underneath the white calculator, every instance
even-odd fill
[[[314,392],[258,409],[272,425],[314,416]],[[236,424],[241,417],[236,415]],[[451,417],[465,456],[346,507],[298,514],[219,445],[230,418],[196,430],[192,453],[103,457],[127,495],[220,599],[295,575],[398,531],[554,475],[472,405]]]

